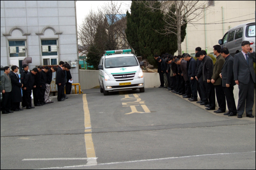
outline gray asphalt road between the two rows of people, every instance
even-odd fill
[[[160,88],[83,92],[1,114],[1,169],[255,169],[255,118],[214,114]]]

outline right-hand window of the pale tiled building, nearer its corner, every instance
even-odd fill
[[[57,65],[58,47],[57,40],[41,40],[43,65]]]

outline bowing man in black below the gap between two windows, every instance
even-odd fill
[[[34,85],[34,81],[35,81],[35,75],[37,74],[38,69],[37,68],[33,68],[32,71],[28,72],[28,74],[25,77],[24,80],[24,90],[26,91],[26,106],[27,109],[33,109],[35,107],[32,106],[32,102],[31,102],[31,94],[32,94],[32,90],[36,88],[36,86]]]

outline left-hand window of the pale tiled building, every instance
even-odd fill
[[[25,41],[9,41],[10,57],[26,57]]]

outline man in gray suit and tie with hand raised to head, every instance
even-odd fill
[[[234,55],[233,72],[234,80],[239,85],[238,118],[242,118],[244,108],[247,117],[253,117],[252,107],[254,103],[255,52],[250,47],[249,41],[242,42],[242,51]],[[246,104],[246,106],[245,106]]]

